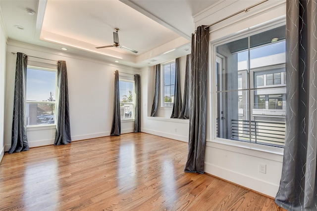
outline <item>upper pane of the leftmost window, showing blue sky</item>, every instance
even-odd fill
[[[26,100],[55,101],[56,72],[27,69]]]

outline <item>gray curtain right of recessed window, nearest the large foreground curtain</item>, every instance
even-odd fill
[[[179,115],[179,119],[189,119],[189,85],[190,85],[190,67],[191,66],[191,54],[186,56],[186,69],[185,69],[185,84],[184,84],[184,97],[183,97],[183,106]]]

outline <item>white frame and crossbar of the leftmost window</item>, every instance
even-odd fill
[[[56,111],[57,111],[57,98],[58,98],[58,93],[57,93],[57,68],[52,69],[52,68],[45,68],[45,67],[40,67],[40,66],[32,66],[28,65],[27,69],[36,69],[36,70],[42,70],[42,71],[50,71],[55,73],[55,101],[31,101],[27,100],[26,104],[38,104],[38,103],[43,103],[43,104],[53,104],[54,105],[54,123],[53,124],[45,124],[45,125],[27,125],[27,128],[31,127],[48,127],[48,126],[56,126]],[[26,90],[27,91],[27,90]]]

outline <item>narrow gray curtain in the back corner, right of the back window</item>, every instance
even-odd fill
[[[135,109],[134,109],[134,132],[141,132],[141,84],[140,75],[134,75]]]

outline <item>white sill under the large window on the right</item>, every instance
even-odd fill
[[[245,143],[223,138],[207,140],[206,146],[222,150],[228,150],[245,155],[261,157],[264,159],[274,160],[278,162],[283,161],[284,148],[280,147],[265,146],[248,142]],[[267,154],[271,154],[272,156],[267,157]]]

